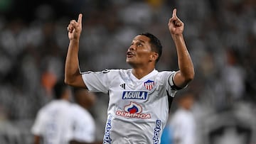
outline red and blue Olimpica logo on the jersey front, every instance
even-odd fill
[[[116,114],[128,118],[151,118],[150,113],[142,113],[142,106],[133,101],[124,106],[124,111],[117,111]]]

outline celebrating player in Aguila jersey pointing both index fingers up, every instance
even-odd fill
[[[82,14],[68,25],[70,44],[65,62],[65,83],[110,96],[104,143],[160,143],[171,101],[178,89],[194,77],[193,63],[183,39],[183,22],[176,9],[169,19],[179,70],[158,72],[161,43],[150,33],[137,35],[127,50],[129,70],[80,73],[78,49]]]

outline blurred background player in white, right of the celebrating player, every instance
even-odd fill
[[[171,117],[170,131],[174,144],[196,144],[196,121],[191,111],[194,96],[185,91],[176,96],[178,109]]]

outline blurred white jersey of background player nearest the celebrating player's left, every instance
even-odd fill
[[[72,131],[70,140],[92,143],[95,141],[95,121],[92,115],[78,104],[73,104],[72,111]]]

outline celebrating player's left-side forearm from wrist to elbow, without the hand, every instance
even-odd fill
[[[65,60],[65,83],[72,84],[80,74],[78,62],[79,40],[70,40]]]

